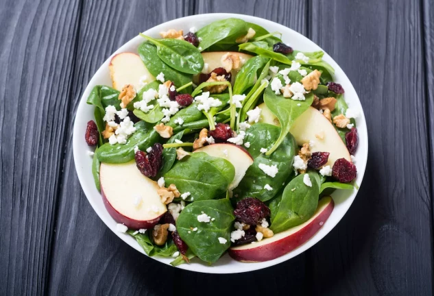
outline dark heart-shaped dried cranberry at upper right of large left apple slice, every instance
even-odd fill
[[[162,163],[162,145],[160,143],[152,146],[152,151],[145,153],[137,151],[134,156],[136,159],[137,169],[146,177],[155,177],[160,170]]]

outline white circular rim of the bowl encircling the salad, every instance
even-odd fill
[[[176,27],[181,24],[184,25],[184,27],[191,27],[192,24],[195,23],[211,23],[212,21],[216,21],[217,19],[223,19],[223,18],[241,18],[244,21],[248,21],[251,23],[256,23],[258,25],[261,25],[262,27],[276,27],[278,28],[278,31],[282,33],[282,36],[285,36],[285,34],[296,36],[296,42],[302,42],[306,45],[309,45],[309,48],[311,48],[311,51],[314,50],[322,50],[321,47],[315,44],[312,40],[309,38],[303,36],[302,34],[294,31],[293,29],[290,29],[289,27],[285,27],[284,25],[280,25],[279,23],[276,23],[274,21],[269,21],[265,18],[260,18],[257,16],[248,16],[245,14],[230,14],[230,13],[210,13],[210,14],[196,14],[193,16],[184,16],[182,18],[176,18],[171,21],[167,21],[165,23],[160,23],[160,25],[156,25],[155,27],[147,29],[144,34],[149,35],[156,35],[155,32],[160,32],[164,29],[167,29],[168,27]],[[185,24],[190,25],[185,25]],[[272,32],[272,31],[271,31]],[[283,38],[285,39],[285,38]],[[138,44],[140,42],[143,42],[143,38],[140,36],[135,36],[128,42],[125,42],[117,51],[114,51],[107,59],[106,61],[101,64],[99,69],[95,72],[91,80],[88,82],[88,85],[86,86],[84,92],[82,93],[82,96],[80,97],[80,101],[77,107],[77,111],[75,113],[75,120],[73,125],[73,158],[74,158],[74,164],[75,164],[75,170],[77,172],[78,179],[80,181],[80,185],[82,186],[82,189],[84,191],[84,194],[86,195],[86,198],[88,199],[89,203],[91,204],[93,210],[97,213],[99,218],[107,225],[107,227],[114,232],[119,238],[121,238],[125,243],[136,249],[137,251],[141,252],[142,254],[145,254],[143,249],[138,245],[136,240],[129,236],[128,234],[123,234],[121,232],[117,232],[116,230],[116,222],[108,215],[108,212],[104,206],[98,206],[97,202],[93,200],[92,196],[99,195],[99,199],[101,199],[101,194],[99,191],[95,188],[95,183],[93,181],[93,178],[88,178],[88,172],[86,170],[91,171],[91,167],[88,166],[88,160],[86,160],[86,151],[83,147],[87,147],[86,143],[84,142],[84,126],[83,124],[87,122],[89,119],[84,119],[84,113],[86,111],[86,108],[92,108],[91,106],[88,106],[86,104],[86,99],[88,95],[91,93],[92,88],[99,84],[97,83],[98,80],[101,80],[101,77],[104,76],[105,72],[108,72],[108,64],[113,56],[115,56],[117,53],[121,52],[127,52],[131,51],[131,47],[134,47],[134,44]],[[295,47],[297,49],[297,47]],[[358,152],[356,156],[357,160],[357,184],[361,186],[361,183],[363,181],[363,176],[365,174],[366,169],[366,163],[367,163],[367,151],[368,151],[368,137],[367,137],[367,126],[365,121],[365,115],[363,113],[363,108],[361,106],[360,99],[354,90],[354,87],[352,86],[350,79],[348,79],[346,73],[343,72],[341,67],[331,58],[326,51],[324,51],[324,60],[330,63],[331,66],[335,69],[335,75],[333,75],[335,78],[339,76],[339,83],[343,84],[344,88],[346,89],[346,97],[345,100],[348,103],[348,93],[352,96],[352,103],[349,104],[349,106],[353,106],[357,108],[357,112],[359,112],[359,116],[357,118],[357,130],[359,132],[359,147]],[[104,77],[103,77],[104,78]],[[93,114],[93,112],[92,112]],[[86,150],[89,148],[87,147]],[[89,158],[87,156],[87,158]],[[92,160],[90,160],[92,163]],[[341,190],[343,191],[343,190]],[[350,191],[350,190],[348,190]],[[266,267],[272,267],[276,264],[279,264],[280,262],[284,262],[286,260],[289,260],[295,256],[298,256],[302,252],[306,251],[306,249],[311,248],[313,245],[315,245],[318,241],[322,240],[326,234],[328,234],[333,228],[341,221],[344,214],[348,212],[348,209],[350,208],[352,202],[354,201],[355,197],[357,196],[359,190],[352,190],[350,195],[348,194],[339,194],[339,198],[335,196],[335,193],[333,193],[332,197],[333,200],[339,199],[341,200],[342,209],[339,210],[339,212],[342,212],[338,216],[336,213],[336,205],[333,209],[332,214],[330,214],[330,217],[327,219],[326,223],[322,225],[322,228],[315,233],[309,240],[306,241],[306,243],[300,245],[298,248],[294,249],[293,251],[290,251],[289,253],[280,256],[274,260],[269,260],[265,262],[255,262],[254,264],[248,264],[248,263],[242,263],[238,262],[236,260],[233,260],[232,258],[230,260],[225,260],[226,262],[237,262],[237,266],[230,266],[230,264],[219,264],[219,261],[217,261],[214,265],[208,266],[206,264],[201,263],[194,263],[194,264],[181,264],[178,266],[180,269],[189,270],[189,271],[196,271],[196,272],[202,272],[202,273],[241,273],[241,272],[248,272],[248,271],[255,271],[258,269],[263,269]],[[335,201],[336,204],[336,201]],[[333,215],[335,213],[335,215]],[[107,217],[107,215],[109,217]],[[333,219],[330,219],[332,218]],[[146,255],[146,254],[145,254]],[[147,255],[146,255],[147,256]],[[228,256],[226,254],[225,256]],[[158,256],[151,257],[154,260],[157,260],[159,262],[169,264],[169,262],[173,258],[162,258]],[[222,260],[222,258],[220,259]],[[240,263],[240,264],[238,264]],[[242,264],[242,265],[241,265]]]

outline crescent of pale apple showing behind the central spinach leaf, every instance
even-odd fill
[[[204,146],[195,152],[205,152],[210,156],[224,158],[228,160],[235,168],[235,177],[232,183],[229,184],[228,190],[232,191],[238,186],[241,179],[245,175],[245,171],[253,164],[253,158],[243,147],[229,144],[213,144]]]

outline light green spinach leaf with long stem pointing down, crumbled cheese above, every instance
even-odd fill
[[[278,75],[282,80],[282,77]],[[282,81],[283,83],[283,81]],[[264,102],[267,108],[278,118],[280,122],[280,136],[274,143],[273,147],[269,149],[267,155],[273,153],[282,143],[285,136],[289,133],[291,125],[304,111],[312,105],[313,93],[306,94],[304,101],[295,101],[293,99],[286,99],[282,95],[276,95],[272,90],[271,84],[267,87],[264,93]]]

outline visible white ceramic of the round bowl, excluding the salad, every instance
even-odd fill
[[[184,32],[188,32],[190,27],[201,28],[208,23],[213,21],[217,21],[222,18],[242,18],[245,21],[256,23],[265,27],[269,32],[280,32],[282,33],[283,42],[289,42],[294,49],[299,51],[318,51],[322,50],[320,47],[315,45],[314,42],[309,40],[308,38],[302,36],[301,34],[289,29],[283,25],[279,25],[278,23],[274,23],[272,21],[267,21],[263,18],[257,18],[254,16],[245,16],[242,14],[200,14],[195,16],[187,16],[184,18],[178,18],[173,21],[169,21],[167,23],[163,23],[152,29],[148,29],[144,32],[147,36],[152,36],[159,38],[160,31],[166,31],[167,29],[183,29]],[[143,38],[140,36],[136,36],[132,38],[132,40],[128,41],[123,45],[120,49],[112,53],[114,56],[117,53],[130,51],[136,52],[138,45],[143,42]],[[94,119],[93,117],[93,106],[89,106],[86,104],[86,99],[88,95],[91,93],[93,86],[98,84],[105,84],[111,86],[111,80],[108,70],[108,64],[110,56],[104,64],[98,69],[97,73],[92,77],[91,82],[89,82],[86,90],[84,90],[82,99],[80,100],[80,104],[77,109],[77,115],[75,116],[74,123],[74,134],[73,134],[73,149],[74,149],[74,160],[75,160],[75,169],[77,169],[78,179],[80,180],[80,184],[82,184],[82,188],[86,197],[88,198],[91,206],[97,212],[98,216],[106,223],[106,225],[121,238],[125,243],[128,243],[131,247],[143,253],[145,252],[143,249],[136,243],[136,240],[129,236],[128,234],[123,234],[116,231],[116,222],[110,217],[106,208],[104,207],[103,201],[101,199],[101,195],[99,194],[97,188],[95,188],[95,183],[93,182],[93,176],[91,171],[92,158],[88,156],[86,151],[89,150],[88,145],[84,140],[84,132],[86,130],[86,123]],[[359,97],[357,97],[357,93],[354,90],[350,80],[347,75],[343,73],[342,69],[337,65],[337,63],[328,56],[327,53],[324,54],[324,60],[328,62],[335,69],[335,81],[343,86],[345,89],[345,99],[348,103],[348,106],[352,109],[359,111],[359,117],[356,119],[357,121],[357,131],[359,132],[359,148],[357,149],[357,155],[355,158],[355,164],[357,166],[357,184],[361,185],[363,175],[365,173],[365,167],[367,162],[367,129],[365,123],[365,116],[363,114],[363,110],[361,107],[361,103],[359,101]],[[321,240],[330,230],[335,227],[335,225],[342,219],[343,215],[347,212],[348,208],[354,201],[354,198],[357,195],[357,190],[337,190],[333,193],[333,200],[335,201],[335,208],[326,221],[323,227],[315,236],[313,236],[310,240],[308,240],[304,245],[298,247],[297,249],[289,252],[285,256],[280,258],[276,258],[274,260],[270,260],[267,262],[257,262],[257,263],[242,263],[233,260],[225,254],[220,258],[220,260],[212,265],[208,265],[206,263],[200,262],[199,260],[193,260],[191,264],[182,264],[179,266],[181,269],[186,269],[190,271],[200,271],[204,273],[240,273],[246,271],[254,271],[256,269],[263,269],[265,267],[270,267],[272,265],[278,264],[280,262],[289,260],[294,256],[306,251],[319,240]],[[160,258],[160,257],[152,257],[155,260],[158,260],[162,263],[169,264],[173,258]]]

